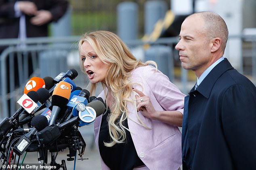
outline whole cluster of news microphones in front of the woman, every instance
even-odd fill
[[[11,160],[15,162],[14,154],[21,156],[24,152],[38,152],[38,161],[47,164],[48,151],[66,148],[67,160],[74,160],[77,150],[83,160],[86,143],[78,127],[94,123],[104,113],[105,104],[102,98],[76,86],[72,80],[77,76],[78,72],[70,69],[55,78],[32,77],[27,82],[17,101],[20,108],[0,123],[3,165],[8,167]],[[50,164],[57,165],[55,159]]]

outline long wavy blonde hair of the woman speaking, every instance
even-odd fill
[[[103,63],[110,64],[109,70],[105,74],[105,83],[101,83],[103,89],[107,89],[113,96],[113,107],[111,114],[107,117],[109,134],[112,139],[106,146],[113,146],[115,143],[123,143],[126,139],[126,127],[124,120],[127,119],[127,102],[133,102],[129,99],[132,93],[131,72],[140,66],[157,64],[155,61],[143,63],[137,60],[129,51],[125,43],[114,33],[109,31],[94,31],[86,33],[79,41],[79,51],[84,42],[88,42],[97,56]],[[83,62],[80,59],[81,70],[85,73]],[[90,93],[95,94],[97,84],[90,84]],[[105,97],[107,96],[106,91]]]

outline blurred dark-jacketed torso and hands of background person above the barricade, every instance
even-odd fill
[[[0,0],[0,39],[47,37],[67,7],[67,0]]]

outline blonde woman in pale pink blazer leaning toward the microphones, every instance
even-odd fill
[[[104,89],[106,112],[94,122],[102,170],[179,169],[185,95],[114,33],[85,34],[79,51],[91,94],[99,82]]]

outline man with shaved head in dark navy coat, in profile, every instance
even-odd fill
[[[181,25],[181,65],[197,76],[185,97],[183,170],[256,169],[256,87],[223,57],[228,35],[213,12],[192,14]]]

